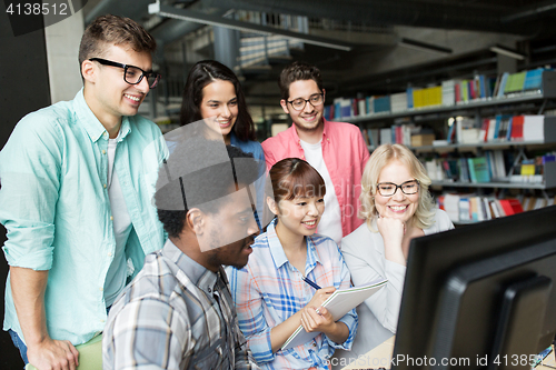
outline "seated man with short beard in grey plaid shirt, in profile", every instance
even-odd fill
[[[169,240],[112,306],[103,369],[259,369],[222,269],[252,252],[257,174],[251,154],[224,142],[176,147],[155,194]]]

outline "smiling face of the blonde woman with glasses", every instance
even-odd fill
[[[404,163],[398,160],[393,160],[380,171],[378,183],[391,182],[399,186],[414,179],[409,169]],[[419,191],[415,194],[407,196],[401,189],[397,189],[394,196],[383,197],[377,190],[374,197],[375,207],[380,217],[400,219],[407,222],[415,214],[415,211],[417,211]]]

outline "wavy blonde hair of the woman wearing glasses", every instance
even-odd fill
[[[361,194],[359,201],[361,209],[359,218],[367,221],[367,224],[373,230],[371,221],[378,216],[375,206],[375,194],[377,192],[378,178],[380,171],[391,163],[394,160],[400,161],[409,169],[409,173],[419,181],[419,200],[417,210],[411,217],[413,224],[420,229],[427,229],[434,223],[435,213],[433,212],[434,201],[428,192],[430,178],[427,176],[421,162],[415,154],[401,144],[381,144],[370,156],[361,177]]]

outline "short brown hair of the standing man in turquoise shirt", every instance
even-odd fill
[[[95,19],[85,30],[79,46],[79,66],[87,59],[102,58],[112,44],[151,54],[157,50],[157,41],[135,20],[106,14]]]

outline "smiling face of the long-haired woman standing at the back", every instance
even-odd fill
[[[202,89],[199,110],[210,129],[228,138],[238,117],[238,98],[234,84],[222,80],[207,84]]]

